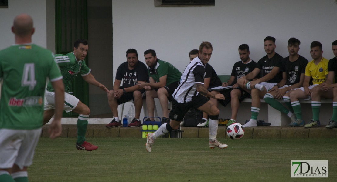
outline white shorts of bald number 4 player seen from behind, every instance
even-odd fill
[[[34,150],[42,128],[34,130],[0,129],[0,169],[20,169],[32,165]]]

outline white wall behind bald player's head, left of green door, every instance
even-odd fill
[[[14,34],[10,28],[14,17],[21,13],[27,13],[33,18],[35,33],[32,42],[47,48],[46,0],[15,0],[8,1],[8,8],[0,8],[0,50],[14,43]]]

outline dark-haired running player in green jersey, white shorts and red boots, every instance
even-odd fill
[[[84,59],[88,53],[88,41],[85,39],[76,40],[74,43],[73,51],[63,54],[56,54],[55,59],[56,63],[59,65],[61,69],[61,73],[63,76],[63,83],[65,87],[64,93],[64,106],[63,110],[66,112],[73,111],[79,114],[77,120],[77,142],[76,148],[78,150],[87,150],[92,151],[96,150],[98,147],[92,145],[89,142],[86,142],[85,134],[87,132],[88,126],[88,118],[90,114],[90,109],[88,106],[83,104],[78,98],[73,95],[68,94],[71,82],[75,78],[77,74],[81,74],[82,78],[97,87],[106,93],[110,93],[109,90],[98,82],[94,76],[90,73],[90,69],[85,64]],[[47,85],[47,91],[45,92],[45,103],[44,103],[44,114],[43,114],[43,122],[47,123],[54,115],[54,90],[50,84]]]

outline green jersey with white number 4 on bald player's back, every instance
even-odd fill
[[[0,129],[42,127],[47,77],[62,79],[53,53],[35,44],[14,44],[0,51]]]

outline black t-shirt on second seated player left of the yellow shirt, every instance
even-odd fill
[[[272,58],[268,58],[268,55],[266,55],[265,57],[261,58],[260,60],[258,60],[256,67],[262,71],[262,75],[261,77],[266,76],[268,73],[270,73],[272,71],[272,69],[274,67],[279,67],[281,68],[282,66],[282,59],[283,57],[280,56],[278,53],[275,53],[275,55]],[[266,81],[269,83],[278,83],[282,80],[282,72],[280,71],[279,73],[277,73],[275,75],[274,78]]]

